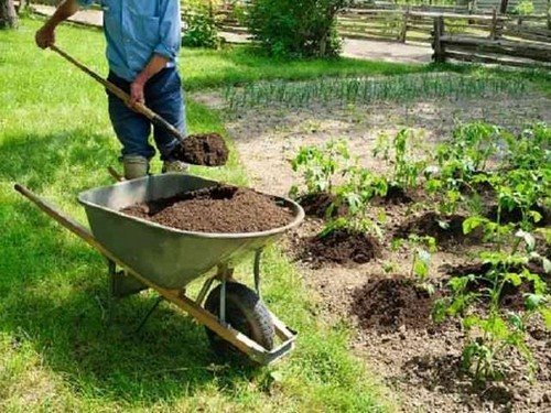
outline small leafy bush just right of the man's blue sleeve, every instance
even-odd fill
[[[184,4],[185,30],[182,44],[190,47],[219,46],[218,25],[215,18],[216,0],[191,0]]]

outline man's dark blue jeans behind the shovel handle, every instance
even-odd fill
[[[109,72],[108,80],[130,93],[130,83]],[[145,106],[173,124],[185,135],[185,112],[182,81],[175,67],[166,67],[151,77],[143,88]],[[143,115],[134,112],[122,100],[107,91],[109,117],[115,133],[122,144],[122,156],[140,155],[153,157],[155,149],[149,143],[151,122]],[[164,129],[153,126],[153,139],[161,152],[161,160],[172,161],[170,153],[177,140]]]

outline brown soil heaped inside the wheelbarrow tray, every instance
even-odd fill
[[[132,205],[121,213],[176,229],[198,232],[256,232],[293,220],[290,208],[256,191],[229,185]]]

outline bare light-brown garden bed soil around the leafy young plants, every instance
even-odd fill
[[[313,105],[294,110],[247,109],[228,116],[226,124],[253,186],[287,195],[298,182],[289,160],[301,145],[344,138],[364,165],[383,172],[389,166],[371,155],[379,134],[393,137],[400,129],[411,128],[430,151],[457,121],[474,120],[512,131],[520,130],[525,122],[549,123],[551,100],[527,95],[515,99],[495,96],[479,100],[444,99],[345,108]],[[529,345],[538,363],[536,382],[529,381],[515,352],[507,355],[509,378],[506,381],[475,388],[461,372],[464,330],[455,320],[433,324],[430,313],[435,297],[412,282],[411,251],[406,247],[390,248],[397,232],[431,229],[436,235],[440,232],[431,224],[435,219],[433,206],[417,194],[407,195],[414,202],[380,199],[375,203],[374,215],[377,208],[385,209],[387,215],[386,239],[381,254],[367,263],[320,265],[316,257],[301,256],[299,247],[322,228],[322,221],[315,217],[309,218],[288,238],[289,253],[298,260],[305,282],[320,298],[318,316],[336,323],[345,319],[356,327],[354,351],[396,390],[404,412],[551,412],[551,336],[543,329],[541,319],[529,327]],[[313,215],[320,215],[313,209]],[[442,237],[445,242],[433,256],[431,265],[430,282],[436,286],[445,284],[450,268],[472,264],[476,251],[485,248],[479,239],[473,244],[460,233],[446,232]]]

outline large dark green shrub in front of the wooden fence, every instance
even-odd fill
[[[256,40],[277,56],[336,56],[341,39],[336,14],[347,0],[256,0],[248,26]]]

